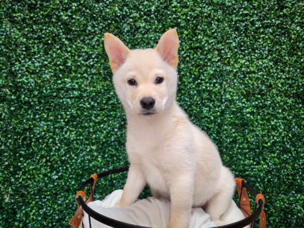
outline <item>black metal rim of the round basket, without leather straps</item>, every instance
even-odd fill
[[[119,169],[113,169],[113,170],[108,170],[102,173],[97,174],[97,179],[101,178],[101,177],[105,177],[111,174],[116,174],[116,173],[122,173],[122,172],[126,172],[129,170],[129,167],[126,168],[119,168]],[[87,179],[80,187],[78,187],[77,191],[82,191],[91,181],[94,181],[94,179],[92,177],[90,177],[89,179]],[[242,186],[245,187],[251,194],[253,194],[254,196],[256,196],[258,194],[258,192],[256,191],[256,189],[254,189],[253,187],[251,187],[249,184],[247,184],[244,180],[242,181]],[[109,217],[106,217],[102,214],[99,214],[98,212],[92,210],[83,200],[83,198],[81,196],[79,196],[77,198],[77,201],[79,202],[79,204],[82,206],[82,208],[84,209],[84,211],[89,215],[89,217],[91,216],[92,218],[94,218],[95,220],[109,225],[111,227],[117,227],[117,228],[152,228],[152,227],[146,227],[146,226],[140,226],[140,225],[133,225],[133,224],[129,224],[126,222],[122,222],[116,219],[112,219]],[[221,225],[221,226],[216,226],[213,228],[243,228],[246,225],[249,225],[250,223],[252,223],[260,214],[261,210],[263,207],[263,201],[260,199],[258,201],[258,207],[256,208],[256,210],[249,215],[248,217],[231,223],[231,224],[227,224],[227,225]]]

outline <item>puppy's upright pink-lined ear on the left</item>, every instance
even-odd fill
[[[130,49],[111,33],[104,33],[104,49],[113,73],[126,61],[130,53]]]

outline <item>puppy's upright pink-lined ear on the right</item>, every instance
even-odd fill
[[[173,28],[166,31],[162,35],[158,45],[156,46],[156,51],[160,53],[162,58],[167,63],[169,63],[172,67],[176,68],[178,64],[178,46],[178,35],[176,30]]]

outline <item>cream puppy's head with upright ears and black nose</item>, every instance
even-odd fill
[[[127,112],[152,117],[174,102],[178,46],[175,29],[165,32],[155,49],[144,50],[130,50],[115,35],[105,33],[115,90]]]

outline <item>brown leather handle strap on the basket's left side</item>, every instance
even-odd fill
[[[75,201],[77,204],[77,210],[74,214],[73,217],[71,217],[71,219],[69,220],[68,224],[70,226],[72,226],[73,228],[78,228],[80,226],[80,223],[82,221],[82,217],[84,214],[84,209],[82,208],[82,206],[79,205],[77,198],[79,196],[81,196],[83,198],[83,200],[86,202],[86,204],[90,203],[91,201],[94,200],[94,189],[95,189],[95,183],[97,181],[97,174],[93,174],[91,176],[93,178],[93,181],[90,182],[90,189],[91,189],[91,193],[90,193],[90,197],[88,198],[88,200],[86,201],[86,194],[83,191],[78,191],[75,194]]]

